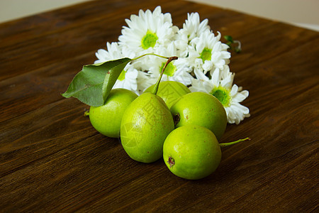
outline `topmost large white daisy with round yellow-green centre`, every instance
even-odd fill
[[[132,15],[125,21],[128,27],[123,26],[118,40],[140,55],[153,53],[157,46],[171,43],[178,31],[177,26],[172,24],[171,14],[163,14],[160,6],[157,6],[153,13],[150,10],[140,10],[138,16]]]

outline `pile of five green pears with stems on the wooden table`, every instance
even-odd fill
[[[189,180],[213,173],[221,159],[218,143],[226,129],[223,105],[204,92],[191,92],[179,82],[160,82],[138,96],[111,89],[105,104],[90,107],[92,126],[105,136],[121,138],[126,153],[142,163],[164,159],[174,175]]]

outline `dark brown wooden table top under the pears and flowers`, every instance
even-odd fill
[[[215,173],[174,176],[162,160],[131,160],[96,132],[74,75],[118,40],[139,9],[197,11],[213,31],[242,42],[235,83],[251,117],[228,125]],[[0,24],[0,212],[317,212],[319,33],[187,1],[91,1]]]

